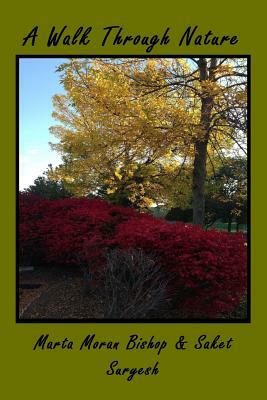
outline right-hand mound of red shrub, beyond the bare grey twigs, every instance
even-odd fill
[[[139,218],[121,224],[115,240],[122,248],[156,254],[172,274],[183,307],[196,314],[231,311],[245,292],[246,247],[240,233]]]

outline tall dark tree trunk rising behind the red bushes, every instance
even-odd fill
[[[210,68],[207,65],[206,58],[200,58],[199,73],[200,81],[212,81],[214,78],[214,69],[216,68],[216,58],[211,59]],[[200,127],[202,135],[195,142],[195,158],[193,167],[193,224],[204,225],[205,219],[205,180],[206,180],[206,160],[207,146],[210,135],[211,112],[213,108],[213,97],[208,89],[203,85],[201,93],[201,117]]]

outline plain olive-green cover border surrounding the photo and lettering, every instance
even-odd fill
[[[106,4],[107,3],[107,4]],[[22,399],[57,399],[97,396],[98,398],[161,398],[230,399],[251,398],[262,385],[266,351],[264,341],[265,277],[264,269],[264,195],[265,183],[265,60],[263,27],[264,10],[261,2],[176,1],[126,3],[117,1],[89,3],[59,3],[47,1],[8,6],[1,22],[2,62],[2,132],[1,132],[1,249],[2,265],[1,307],[1,366],[5,396]],[[22,38],[39,25],[40,40],[35,47],[22,47]],[[51,26],[81,25],[95,28],[92,46],[47,48],[45,38]],[[129,32],[140,34],[163,33],[171,28],[171,42],[156,47],[153,54],[251,54],[252,66],[252,322],[250,324],[16,324],[15,322],[15,55],[16,54],[142,54],[141,46],[113,48],[97,46],[102,28],[122,25]],[[188,25],[198,25],[202,33],[211,29],[223,35],[238,35],[235,46],[178,47],[178,38]],[[98,35],[98,36],[97,36]],[[87,51],[86,51],[87,50]],[[257,203],[256,203],[257,195]],[[257,205],[257,212],[255,206]],[[262,214],[261,214],[262,211]],[[261,228],[262,227],[262,228]],[[100,340],[119,340],[121,349],[115,351],[32,351],[37,338],[49,333],[51,338],[65,337],[76,342],[95,333]],[[128,335],[137,333],[143,338],[167,340],[169,346],[158,357],[154,351],[124,351]],[[223,339],[233,337],[229,350],[194,351],[192,344],[201,335]],[[177,351],[174,344],[184,335],[191,349]],[[132,382],[124,377],[107,376],[105,371],[112,360],[122,366],[143,367],[159,360],[157,376],[137,376]],[[3,373],[2,373],[3,374]],[[262,379],[262,380],[261,380]],[[1,387],[1,391],[4,390]],[[256,395],[257,396],[257,395]]]

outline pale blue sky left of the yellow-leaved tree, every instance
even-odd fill
[[[52,97],[64,93],[56,67],[63,58],[22,58],[19,69],[19,164],[20,190],[42,175],[48,164],[60,163],[60,156],[48,142],[56,142],[49,133],[55,124],[51,114]]]

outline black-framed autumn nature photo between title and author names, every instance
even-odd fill
[[[250,321],[250,56],[16,57],[17,322]]]

